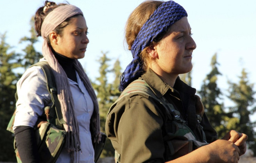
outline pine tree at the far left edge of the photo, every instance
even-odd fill
[[[14,135],[7,131],[7,125],[15,110],[15,91],[19,74],[15,68],[21,67],[21,59],[5,41],[6,34],[0,34],[0,161],[15,161]]]

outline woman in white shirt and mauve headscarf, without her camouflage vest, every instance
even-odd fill
[[[94,162],[92,141],[99,141],[99,111],[95,92],[78,59],[89,40],[82,11],[73,5],[45,1],[35,14],[35,29],[42,36],[43,59],[53,70],[57,95],[66,122],[65,147],[57,162]],[[51,106],[46,78],[39,66],[26,70],[17,83],[14,122],[16,146],[22,162],[40,162],[33,127],[43,108]]]

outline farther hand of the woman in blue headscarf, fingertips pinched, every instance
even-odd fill
[[[235,130],[231,130],[222,138],[223,140],[229,140],[238,146],[240,149],[239,156],[245,154],[246,152],[246,140],[248,136],[244,133],[237,132]]]

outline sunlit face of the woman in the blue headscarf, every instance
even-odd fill
[[[191,27],[187,17],[183,17],[169,28],[169,32],[154,47],[157,58],[155,72],[174,75],[192,70],[192,52],[196,44],[191,37]]]

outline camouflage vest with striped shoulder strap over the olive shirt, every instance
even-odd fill
[[[162,104],[163,110],[167,115],[167,122],[169,122],[168,124],[165,124],[164,128],[166,130],[166,135],[163,135],[166,151],[166,155],[164,156],[165,161],[174,160],[175,158],[181,157],[208,144],[206,142],[204,132],[202,131],[204,141],[198,141],[192,130],[185,124],[185,120],[181,118],[180,112],[177,111],[172,104],[167,103],[164,97],[158,98],[144,80],[138,79],[131,82],[127,88],[123,90],[115,103],[110,107],[109,112],[114,108],[119,100],[130,93],[145,94]],[[170,128],[175,129],[175,131],[170,132]],[[120,161],[121,155],[115,151],[115,162],[120,163]]]

